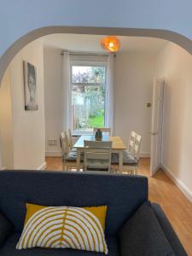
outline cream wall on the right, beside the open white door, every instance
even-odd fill
[[[169,43],[156,58],[166,79],[162,164],[192,201],[192,56]]]

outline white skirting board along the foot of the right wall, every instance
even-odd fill
[[[172,174],[169,168],[164,165],[161,165],[160,167],[164,172],[166,172],[166,175],[172,179],[172,182],[177,185],[177,188],[183,192],[183,195],[185,195],[192,203],[192,191],[182,181],[175,177],[175,175]]]

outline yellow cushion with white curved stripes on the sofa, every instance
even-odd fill
[[[44,207],[26,204],[17,249],[73,248],[108,254],[104,228],[107,207]]]

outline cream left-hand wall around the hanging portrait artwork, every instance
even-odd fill
[[[37,67],[37,111],[26,111],[24,107],[23,61]],[[4,77],[2,89],[0,121],[3,166],[14,169],[38,169],[44,166],[44,57],[40,40],[27,45],[15,56],[9,66],[9,74]],[[6,105],[3,104],[9,104],[9,108],[5,108]],[[6,153],[8,148],[9,156]]]

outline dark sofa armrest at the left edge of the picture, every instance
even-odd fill
[[[13,224],[11,224],[10,221],[0,212],[0,247],[3,246],[3,243],[13,232]]]

